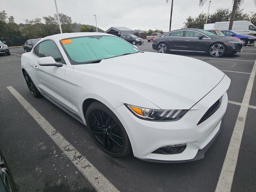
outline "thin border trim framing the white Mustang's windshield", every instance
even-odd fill
[[[66,54],[66,56],[67,56],[67,58],[68,58],[68,60],[69,60],[69,62],[70,62],[71,65],[91,64],[91,63],[94,62],[95,60],[86,61],[86,62],[75,62],[75,61],[74,61],[74,62],[76,63],[76,64],[74,64],[74,63],[72,62],[72,61],[73,61],[72,58],[70,57],[70,55],[68,54],[68,52],[67,52],[66,49],[64,48],[64,45],[61,43],[61,41],[62,41],[62,40],[66,40],[66,39],[83,38],[83,37],[92,37],[92,36],[112,36],[112,35],[76,36],[76,37],[64,38],[64,39],[60,39],[60,40],[59,40],[60,46],[61,46],[62,49],[64,50],[64,52],[65,52],[65,54]],[[122,38],[120,38],[120,37],[118,37],[118,36],[114,36],[114,37],[119,38],[119,39],[122,39]],[[127,42],[126,40],[124,40],[124,39],[122,39],[122,40],[123,40],[125,43],[127,43],[127,44],[133,46],[132,44],[130,44],[130,43]],[[134,47],[134,46],[133,46],[133,47]],[[134,48],[136,48],[136,47],[134,47]],[[138,50],[138,51],[136,51],[136,52],[134,52],[134,53],[139,53],[139,52],[141,52],[138,48],[136,48],[136,50]],[[134,53],[130,53],[130,54],[134,54]],[[114,57],[120,57],[120,56],[124,56],[124,55],[122,54],[122,55],[118,55],[118,56],[114,56]],[[114,58],[114,57],[110,57],[110,58]],[[110,59],[110,58],[103,58],[103,59],[101,59],[101,60]]]

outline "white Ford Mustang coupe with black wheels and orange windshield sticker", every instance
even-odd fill
[[[218,136],[230,79],[206,62],[141,52],[104,33],[56,34],[22,54],[34,97],[90,128],[107,154],[153,162],[204,157]]]

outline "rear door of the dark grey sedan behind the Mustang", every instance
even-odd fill
[[[184,37],[183,37],[183,30],[180,31],[174,31],[171,33],[168,33],[162,37],[166,38],[165,42],[168,46],[168,50],[184,50]]]

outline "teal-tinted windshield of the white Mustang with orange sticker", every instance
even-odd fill
[[[139,52],[127,41],[116,36],[84,36],[60,41],[70,63],[87,64]]]

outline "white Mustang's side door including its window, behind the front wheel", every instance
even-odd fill
[[[34,50],[35,57],[37,57],[34,68],[38,76],[40,90],[62,106],[72,110],[72,103],[66,89],[66,64],[58,47],[52,40],[46,40],[38,44]],[[52,56],[57,63],[63,64],[63,66],[40,66],[37,64],[38,58],[47,56]]]

